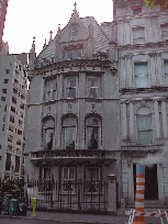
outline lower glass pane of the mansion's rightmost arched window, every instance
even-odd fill
[[[87,127],[88,149],[98,149],[98,127]]]

